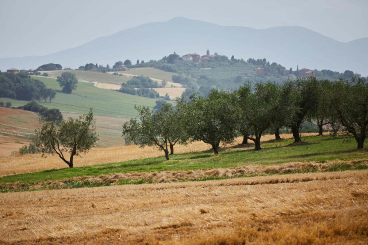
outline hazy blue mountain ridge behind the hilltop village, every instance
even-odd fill
[[[338,42],[307,28],[298,26],[253,29],[220,26],[203,21],[176,17],[121,30],[99,37],[78,47],[45,56],[1,58],[0,69],[36,69],[47,63],[78,68],[87,63],[109,64],[129,59],[158,60],[177,54],[204,55],[209,49],[235,58],[266,58],[287,69],[330,69],[368,74],[368,38],[348,43]]]

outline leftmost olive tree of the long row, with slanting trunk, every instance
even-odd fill
[[[169,160],[169,151],[170,155],[174,154],[174,145],[178,142],[185,144],[187,141],[180,111],[167,103],[157,113],[149,107],[134,108],[139,116],[123,124],[122,136],[130,141],[138,141],[140,147],[158,147],[164,151],[166,160]]]

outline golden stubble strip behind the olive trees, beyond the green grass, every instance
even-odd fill
[[[315,134],[303,134],[303,136],[315,135]],[[272,139],[274,136],[266,135],[262,137],[262,141]],[[291,134],[282,134],[282,138],[291,138]],[[242,138],[237,138],[233,145],[241,143]],[[244,148],[253,148],[253,144],[248,144]],[[188,153],[188,152],[201,152],[207,151],[211,147],[209,144],[205,144],[201,141],[191,143],[187,146],[176,145],[176,154]],[[239,149],[239,148],[237,148]],[[231,148],[230,148],[231,150]],[[87,154],[74,157],[74,167],[91,166],[96,164],[123,162],[134,159],[150,158],[163,156],[163,152],[157,148],[145,147],[139,148],[137,145],[119,146],[119,147],[106,147],[106,148],[94,148]],[[21,156],[0,156],[0,176],[10,174],[21,174],[38,172],[49,169],[62,169],[67,165],[57,155],[47,155],[46,158],[42,158],[41,154],[28,154]]]

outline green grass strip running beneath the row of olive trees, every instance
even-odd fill
[[[352,138],[304,137],[304,144],[289,145],[292,139],[269,141],[262,144],[261,151],[248,148],[223,148],[219,156],[213,156],[212,151],[178,154],[170,156],[170,161],[164,157],[146,158],[118,163],[108,163],[93,166],[74,167],[72,169],[53,169],[43,172],[17,174],[0,178],[0,183],[16,181],[34,182],[46,180],[61,180],[80,176],[98,176],[101,174],[120,172],[149,172],[161,170],[196,170],[213,167],[234,167],[241,165],[273,165],[291,162],[326,162],[333,160],[366,159],[367,149],[356,150]],[[61,160],[60,160],[61,161]]]

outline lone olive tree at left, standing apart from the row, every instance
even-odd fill
[[[88,114],[77,119],[63,119],[59,124],[43,119],[43,126],[36,130],[36,136],[43,154],[56,153],[69,167],[73,167],[74,156],[88,152],[98,140],[92,108]],[[63,152],[69,153],[69,160]]]

